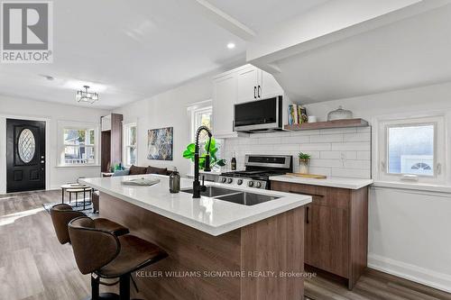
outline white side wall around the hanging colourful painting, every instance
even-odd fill
[[[136,122],[138,125],[137,165],[151,165],[159,168],[177,167],[182,176],[188,174],[191,161],[182,157],[183,150],[192,142],[188,107],[211,99],[212,93],[212,77],[207,76],[116,109],[115,113],[124,114],[124,123]],[[173,160],[147,159],[147,132],[150,129],[162,127],[174,128]]]

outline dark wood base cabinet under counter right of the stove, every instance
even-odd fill
[[[271,186],[312,196],[304,226],[306,267],[345,278],[352,289],[367,264],[368,187],[351,190],[279,181]]]

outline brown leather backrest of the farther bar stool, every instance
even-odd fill
[[[86,216],[86,214],[72,210],[70,205],[60,204],[51,207],[51,222],[61,244],[70,242],[69,222],[80,216]]]

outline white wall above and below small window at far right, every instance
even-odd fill
[[[388,114],[449,113],[451,83],[307,105],[307,110],[324,121],[338,105],[370,123]],[[449,151],[446,155],[451,159]],[[451,194],[372,187],[369,266],[451,292],[450,216]]]

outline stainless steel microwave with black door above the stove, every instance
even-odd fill
[[[281,95],[235,105],[235,132],[275,132],[282,129]]]

